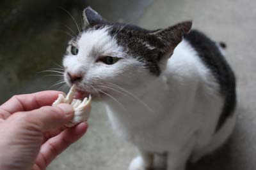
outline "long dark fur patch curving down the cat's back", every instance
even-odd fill
[[[221,54],[216,43],[207,38],[202,32],[191,31],[185,39],[196,50],[200,59],[211,70],[220,85],[220,94],[225,102],[221,112],[216,132],[225,124],[228,117],[234,114],[236,108],[236,77],[227,60]]]

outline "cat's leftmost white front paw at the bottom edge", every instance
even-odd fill
[[[153,170],[154,155],[144,150],[139,152],[140,155],[132,160],[129,170]]]

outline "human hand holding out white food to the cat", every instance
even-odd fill
[[[13,96],[0,106],[0,169],[45,169],[86,132],[81,123],[67,129],[74,115],[69,104],[51,106],[60,92]]]

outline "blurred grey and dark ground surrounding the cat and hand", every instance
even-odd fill
[[[227,60],[237,75],[239,96],[237,126],[232,138],[218,152],[189,170],[256,169],[256,1],[253,0],[4,0],[0,2],[0,104],[14,94],[39,90],[67,90],[54,85],[67,41],[82,26],[86,6],[111,21],[163,28],[193,20],[216,41],[227,43]],[[74,20],[70,16],[74,17]],[[52,86],[54,85],[54,86]],[[48,169],[127,169],[134,147],[116,138],[104,108],[93,103],[88,133],[70,146]]]

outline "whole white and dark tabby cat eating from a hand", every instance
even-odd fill
[[[116,134],[138,148],[129,170],[184,170],[225,143],[236,122],[236,78],[218,43],[191,21],[149,31],[90,7],[83,18],[64,78],[78,96],[102,101]]]

